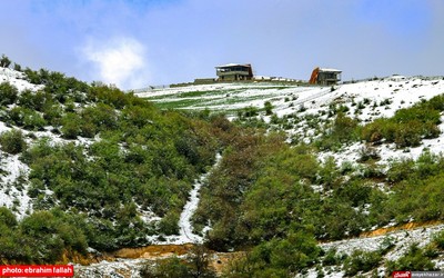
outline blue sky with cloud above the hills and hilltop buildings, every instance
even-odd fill
[[[215,66],[307,80],[444,75],[442,0],[1,0],[0,54],[121,89]]]

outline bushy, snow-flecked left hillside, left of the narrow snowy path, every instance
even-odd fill
[[[0,85],[0,145],[2,157],[18,157],[28,171],[2,188],[23,191],[32,209],[17,219],[19,198],[1,208],[0,258],[54,262],[65,251],[148,245],[149,235],[178,232],[192,181],[222,147],[219,119],[163,112],[44,69],[20,77],[38,89]]]

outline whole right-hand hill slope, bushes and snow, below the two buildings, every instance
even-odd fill
[[[211,85],[139,96],[161,108],[224,111],[234,122],[265,128],[270,135],[285,131],[290,149],[271,143],[274,139],[251,139],[248,147],[225,153],[223,169],[213,179],[210,177],[195,216],[198,224],[203,219],[212,222],[210,246],[258,246],[253,258],[244,264],[252,264],[254,269],[268,261],[274,269],[269,269],[271,274],[282,275],[289,269],[292,274],[302,271],[311,262],[295,261],[297,252],[293,259],[273,262],[273,257],[263,252],[283,256],[284,246],[287,252],[291,248],[301,251],[295,247],[296,238],[304,238],[297,234],[300,230],[313,232],[319,240],[335,240],[405,222],[443,220],[444,203],[437,197],[443,181],[438,168],[444,161],[443,92],[442,77],[412,77],[334,88]],[[265,102],[270,102],[272,112],[270,105],[266,111]],[[441,266],[443,251],[441,247],[434,249],[438,241],[433,241],[436,235],[432,234],[426,239],[412,234],[412,239],[394,240],[390,247],[384,247],[381,239],[370,251],[356,252],[352,252],[355,248],[350,240],[333,241],[331,246],[337,246],[340,252],[335,256],[349,257],[336,275],[353,276],[376,268],[383,275],[384,270],[405,267],[403,264],[414,256],[422,258],[416,269]],[[310,238],[305,240],[310,242]],[[356,241],[357,246],[365,245],[364,240]],[[426,248],[434,255],[424,255],[414,246],[408,249],[414,242],[422,242],[422,247],[432,242]],[[327,246],[321,245],[324,251]],[[392,248],[403,251],[394,257]],[[323,262],[327,257],[319,257],[314,250],[302,252],[319,260],[319,274],[331,272],[331,262]],[[434,262],[427,265],[430,259]],[[282,269],[286,271],[280,272]]]

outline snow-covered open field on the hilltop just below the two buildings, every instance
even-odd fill
[[[188,87],[154,89],[138,92],[160,105],[171,103],[171,107],[184,109],[233,110],[245,107],[263,108],[270,101],[279,116],[292,115],[303,106],[304,113],[316,113],[333,101],[352,105],[364,99],[374,101],[391,101],[389,108],[366,109],[359,116],[362,120],[377,117],[390,117],[400,108],[408,107],[421,99],[430,99],[444,92],[442,77],[411,77],[400,80],[384,78],[373,81],[362,81],[332,87],[291,86],[285,83],[214,83]]]

